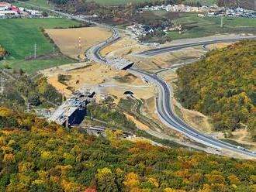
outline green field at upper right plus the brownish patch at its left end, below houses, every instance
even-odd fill
[[[140,19],[144,22],[156,22],[163,19],[171,20],[174,24],[182,25],[182,34],[177,31],[169,32],[166,39],[197,38],[213,36],[220,33],[256,33],[256,19],[241,17],[224,17],[223,28],[220,27],[220,17],[199,17],[196,13],[185,12],[143,12]]]

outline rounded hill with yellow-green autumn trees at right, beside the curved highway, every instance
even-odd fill
[[[216,130],[256,133],[256,41],[211,51],[178,70],[176,96],[185,108],[213,118]],[[254,140],[256,136],[254,135]]]

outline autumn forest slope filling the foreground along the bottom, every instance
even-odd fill
[[[107,138],[0,108],[0,191],[255,191],[256,162]]]

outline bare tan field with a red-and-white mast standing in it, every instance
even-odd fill
[[[111,31],[102,27],[83,27],[75,29],[45,29],[45,32],[61,49],[61,53],[74,59],[84,59],[84,53],[94,46],[112,36]],[[78,47],[79,37],[81,48]]]

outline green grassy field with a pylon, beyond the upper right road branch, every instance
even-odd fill
[[[249,18],[224,18],[223,28],[220,27],[220,18],[199,18],[197,15],[184,16],[174,19],[174,23],[185,25],[182,34],[168,33],[170,39],[196,38],[213,36],[220,33],[256,33],[256,19]]]

